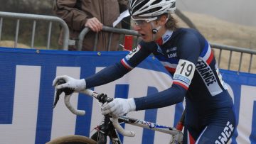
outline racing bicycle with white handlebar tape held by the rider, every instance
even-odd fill
[[[60,81],[58,84],[65,83]],[[65,89],[59,89],[56,92],[55,101],[53,104],[53,108],[56,106],[59,96],[62,93],[65,93],[64,99],[65,99],[65,106],[68,107],[68,109],[79,116],[85,115],[85,111],[75,109],[70,104],[70,96],[73,94],[73,90],[65,88]],[[97,99],[102,104],[108,103],[112,101],[113,99],[108,97],[107,94],[98,94],[97,92],[94,92],[90,89],[85,89],[81,93],[86,94],[88,96],[92,96],[93,98]],[[183,139],[183,122],[184,122],[184,112],[181,116],[181,120],[178,122],[176,128],[169,127],[169,126],[162,126],[156,123],[151,123],[149,121],[142,121],[136,118],[129,118],[127,116],[120,116],[118,118],[112,117],[109,114],[105,115],[103,118],[102,123],[100,126],[97,126],[96,132],[90,137],[82,136],[82,135],[67,135],[59,138],[55,138],[53,140],[50,140],[46,144],[105,144],[107,143],[107,136],[110,138],[110,141],[112,141],[113,144],[121,144],[122,141],[119,138],[119,133],[124,136],[133,137],[135,133],[133,131],[127,131],[122,128],[120,123],[128,123],[133,126],[139,126],[142,128],[147,128],[152,131],[159,131],[161,133],[167,133],[171,135],[171,144],[176,143],[182,143]]]

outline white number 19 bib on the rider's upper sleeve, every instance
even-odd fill
[[[174,73],[174,79],[185,82],[186,85],[191,84],[196,65],[188,60],[179,60]]]

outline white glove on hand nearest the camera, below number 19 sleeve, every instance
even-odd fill
[[[102,114],[111,114],[114,117],[124,116],[130,111],[135,111],[136,105],[134,99],[116,98],[108,104],[102,106]]]

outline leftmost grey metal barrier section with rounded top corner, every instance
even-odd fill
[[[46,48],[47,49],[50,48],[52,25],[53,25],[53,22],[56,22],[63,27],[63,50],[68,50],[68,44],[70,43],[69,30],[68,30],[68,25],[65,23],[65,21],[63,21],[63,19],[58,18],[56,16],[44,16],[44,15],[36,15],[36,14],[28,14],[28,13],[11,13],[11,12],[0,11],[0,40],[1,40],[3,22],[5,18],[12,18],[16,20],[16,33],[14,34],[14,48],[17,48],[17,44],[18,44],[20,20],[26,19],[26,20],[31,20],[31,23],[33,23],[32,28],[31,29],[28,28],[28,31],[31,30],[31,48],[34,48],[36,23],[37,21],[43,21],[44,23],[49,22]]]

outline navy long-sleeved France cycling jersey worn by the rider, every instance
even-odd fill
[[[122,77],[151,53],[170,72],[174,81],[169,89],[162,92],[134,98],[137,110],[170,106],[186,98],[186,126],[201,132],[209,123],[225,127],[229,119],[235,126],[234,118],[228,115],[232,111],[233,100],[218,70],[213,50],[198,31],[190,28],[166,31],[156,42],[141,41],[121,62],[87,78],[87,87]]]

